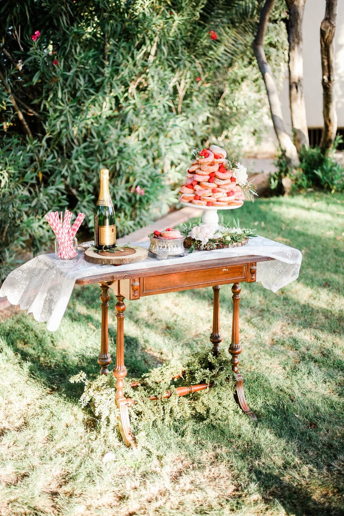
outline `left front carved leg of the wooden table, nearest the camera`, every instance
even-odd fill
[[[119,409],[119,428],[124,443],[127,446],[136,447],[135,437],[132,429],[130,428],[129,412],[128,412],[128,400],[124,396],[124,378],[127,375],[127,370],[124,365],[124,297],[121,295],[116,296],[116,317],[117,317],[117,349],[116,349],[116,365],[112,371],[113,376],[116,378],[116,406]]]

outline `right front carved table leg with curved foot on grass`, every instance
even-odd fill
[[[242,376],[239,373],[238,365],[239,365],[239,359],[238,355],[241,353],[241,346],[239,343],[239,300],[240,300],[240,292],[241,288],[239,283],[234,283],[232,286],[232,292],[233,292],[233,326],[232,326],[232,342],[229,348],[229,351],[232,355],[232,371],[235,374],[236,377],[236,390],[234,393],[234,399],[241,408],[241,410],[248,414],[252,420],[256,421],[256,416],[250,409],[250,407],[247,404],[247,401],[245,399],[245,394],[243,391],[243,380]]]

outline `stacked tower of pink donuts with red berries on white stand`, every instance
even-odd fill
[[[202,149],[188,168],[179,201],[199,206],[242,206],[244,194],[226,155],[217,145]]]

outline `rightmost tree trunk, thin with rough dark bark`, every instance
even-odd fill
[[[337,132],[337,113],[333,95],[334,87],[334,34],[336,30],[337,0],[326,0],[325,18],[320,26],[321,69],[322,69],[322,114],[324,129],[321,136],[322,152],[329,151]]]

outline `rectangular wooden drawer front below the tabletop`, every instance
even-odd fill
[[[140,295],[149,296],[163,292],[250,281],[249,269],[248,264],[242,264],[142,278],[140,282]]]

